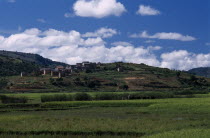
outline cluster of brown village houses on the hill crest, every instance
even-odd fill
[[[63,66],[57,66],[54,69],[53,68],[42,68],[40,69],[42,75],[51,75],[57,76],[58,78],[69,76],[74,71],[86,71],[86,70],[95,70],[97,66],[100,66],[101,63],[93,63],[93,62],[82,62],[77,63],[76,65],[69,65],[67,67]]]

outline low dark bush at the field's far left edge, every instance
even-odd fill
[[[0,95],[0,99],[2,103],[9,104],[9,103],[27,103],[27,97],[14,97],[14,96],[6,96]]]

